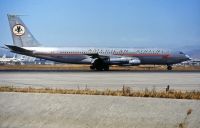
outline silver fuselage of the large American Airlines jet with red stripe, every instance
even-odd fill
[[[182,52],[175,52],[163,49],[131,49],[131,48],[78,48],[78,47],[23,47],[32,51],[30,54],[19,53],[28,56],[43,58],[47,60],[72,63],[72,64],[91,64],[93,58],[90,54],[107,56],[109,59],[135,57],[140,64],[171,65],[189,59]],[[16,52],[16,51],[15,51]],[[122,65],[123,63],[112,63],[109,65]]]

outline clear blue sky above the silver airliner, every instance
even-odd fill
[[[8,13],[44,46],[200,47],[200,0],[0,0],[1,44]]]

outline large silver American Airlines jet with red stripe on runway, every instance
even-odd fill
[[[44,47],[35,39],[18,15],[7,15],[14,45],[11,52],[61,63],[90,64],[91,70],[108,71],[110,65],[172,65],[190,57],[181,51],[147,48]]]

